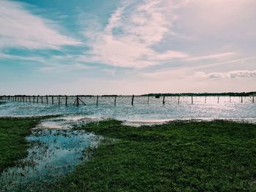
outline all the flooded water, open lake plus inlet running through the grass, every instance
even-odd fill
[[[7,169],[0,175],[0,191],[33,191],[42,188],[50,180],[71,172],[83,157],[83,150],[89,146],[97,146],[99,137],[84,131],[70,128],[80,126],[92,120],[115,118],[133,126],[141,124],[163,123],[167,120],[214,120],[228,119],[256,123],[256,104],[252,97],[135,97],[134,105],[131,97],[124,96],[81,97],[79,107],[74,106],[74,98],[69,98],[65,106],[64,98],[46,101],[39,98],[34,102],[0,102],[1,116],[38,116],[61,115],[58,118],[43,120],[29,141],[36,142],[29,149],[27,158],[20,165]],[[53,129],[53,130],[51,130]]]

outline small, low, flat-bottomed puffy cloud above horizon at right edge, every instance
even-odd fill
[[[248,71],[230,71],[230,72],[213,72],[206,74],[205,72],[197,72],[194,74],[194,77],[203,77],[208,79],[213,78],[256,78],[256,70]]]

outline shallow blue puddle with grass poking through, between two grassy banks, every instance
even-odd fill
[[[0,175],[0,191],[35,191],[71,172],[87,147],[97,147],[101,137],[86,131],[34,130],[27,158]]]

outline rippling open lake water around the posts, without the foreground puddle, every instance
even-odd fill
[[[156,99],[140,96],[135,97],[134,105],[131,104],[130,96],[99,97],[99,104],[96,106],[97,97],[80,97],[86,105],[73,106],[75,97],[68,99],[67,107],[64,105],[64,97],[60,100],[56,97],[53,103],[39,104],[26,102],[7,102],[0,105],[0,116],[30,116],[30,115],[65,115],[69,118],[116,118],[129,122],[157,122],[162,120],[183,120],[183,119],[233,119],[248,120],[255,122],[256,104],[252,103],[252,97],[229,97],[229,96],[197,96],[193,97],[165,97],[165,105],[162,98]],[[219,100],[219,101],[218,101]],[[59,105],[60,101],[60,105]],[[43,98],[43,103],[45,103]]]

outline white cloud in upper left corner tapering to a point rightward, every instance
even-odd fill
[[[24,5],[14,1],[0,1],[0,49],[53,49],[53,46],[59,48],[64,45],[80,44],[77,40],[60,34],[55,29],[56,23],[31,14]]]

